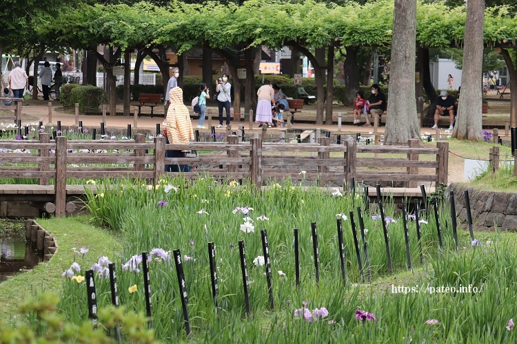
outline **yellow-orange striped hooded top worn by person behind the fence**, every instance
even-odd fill
[[[170,106],[165,122],[170,143],[188,144],[190,141],[194,141],[190,113],[183,104],[183,90],[180,87],[170,90]]]

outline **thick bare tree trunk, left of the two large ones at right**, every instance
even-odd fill
[[[385,144],[420,138],[415,104],[416,0],[395,0]]]

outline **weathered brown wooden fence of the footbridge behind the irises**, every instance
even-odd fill
[[[285,178],[327,185],[345,185],[352,178],[358,182],[406,182],[410,187],[419,182],[447,183],[448,143],[421,148],[418,142],[409,140],[408,146],[358,146],[355,140],[330,144],[329,138],[320,138],[319,144],[263,143],[261,138],[252,138],[239,143],[237,136],[231,135],[227,142],[165,144],[162,137],[145,142],[142,134],[136,134],[134,140],[108,141],[67,140],[64,136],[50,140],[48,134],[41,133],[39,140],[0,140],[0,178],[37,178],[40,185],[49,185],[53,179],[57,216],[65,213],[67,178],[159,180],[165,174],[165,164],[196,166],[194,172],[168,175],[181,174],[190,179],[212,175],[224,180],[250,180],[257,186]],[[166,149],[206,153],[197,158],[165,158]],[[368,157],[368,153],[373,156]],[[420,160],[425,155],[431,160]],[[430,172],[420,174],[418,169]]]

